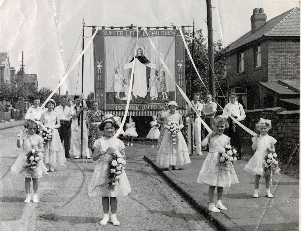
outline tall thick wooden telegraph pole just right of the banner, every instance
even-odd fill
[[[214,80],[214,53],[213,53],[213,28],[212,28],[212,8],[211,0],[206,0],[207,6],[207,29],[208,29],[208,58],[211,67],[209,67],[209,93],[215,98],[215,80]]]

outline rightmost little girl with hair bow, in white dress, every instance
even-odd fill
[[[277,140],[268,135],[268,130],[271,128],[271,120],[265,120],[261,118],[260,121],[256,124],[256,129],[260,132],[260,135],[254,136],[252,138],[252,149],[256,150],[256,152],[244,167],[244,170],[255,175],[255,191],[253,195],[254,198],[259,197],[259,180],[261,176],[264,176],[263,159],[268,153],[275,152],[274,145]],[[278,173],[279,171],[280,169],[278,168],[276,173]],[[266,196],[272,198],[273,195],[270,191],[270,183],[270,176],[265,176]]]

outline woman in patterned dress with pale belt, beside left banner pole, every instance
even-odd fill
[[[104,113],[98,110],[99,103],[97,100],[92,102],[93,111],[88,114],[88,148],[91,148],[92,155],[94,152],[94,142],[101,138],[102,132],[99,130],[101,121],[104,120]]]

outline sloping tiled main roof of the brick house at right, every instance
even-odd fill
[[[293,8],[268,20],[265,25],[252,34],[247,34],[230,44],[227,52],[263,36],[300,36],[300,8]]]

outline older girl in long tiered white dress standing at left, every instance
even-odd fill
[[[55,101],[50,99],[47,102],[48,110],[42,113],[41,124],[50,125],[53,128],[53,134],[50,141],[44,145],[43,161],[48,171],[53,172],[53,166],[64,165],[66,162],[65,152],[61,143],[60,135],[57,131],[61,127],[58,114],[53,111]]]

